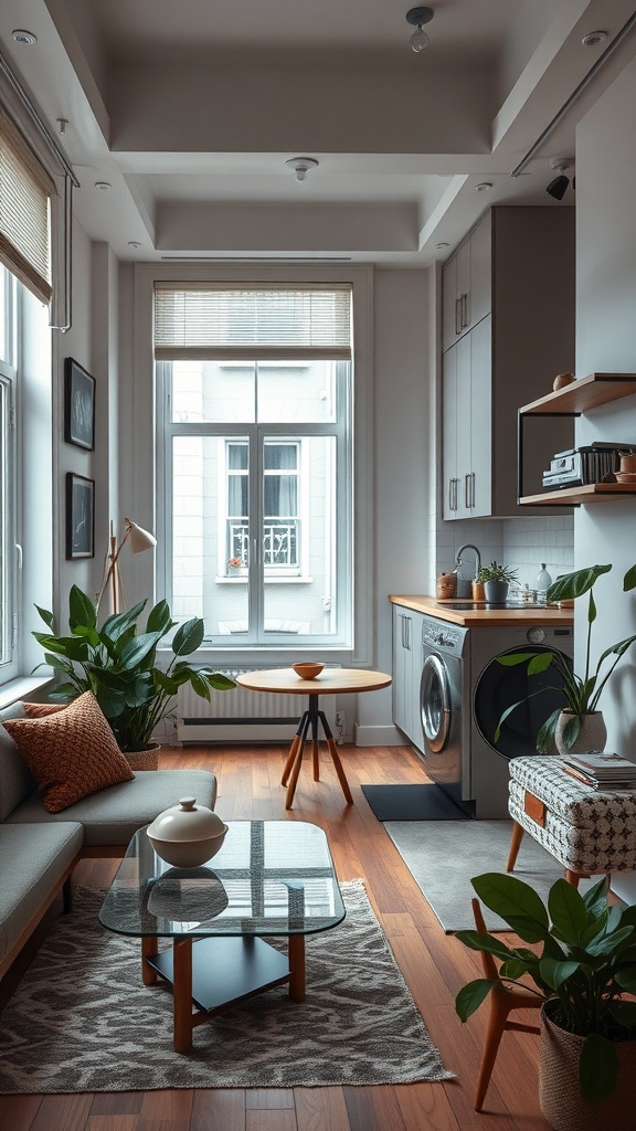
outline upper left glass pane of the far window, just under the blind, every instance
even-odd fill
[[[172,362],[171,418],[178,424],[251,423],[255,372],[252,362]]]

